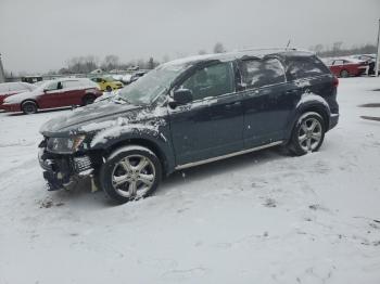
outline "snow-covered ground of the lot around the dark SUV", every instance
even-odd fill
[[[47,192],[39,126],[0,113],[0,283],[380,283],[380,78],[341,79],[320,152],[178,172],[123,206]]]

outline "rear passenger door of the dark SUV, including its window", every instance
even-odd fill
[[[281,140],[300,98],[299,89],[287,82],[284,68],[276,57],[240,61],[239,68],[244,93],[244,146]]]

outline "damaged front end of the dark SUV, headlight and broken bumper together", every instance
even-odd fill
[[[93,173],[101,157],[98,157],[97,153],[76,151],[75,147],[79,146],[78,140],[71,139],[66,138],[65,141],[63,138],[45,138],[39,144],[38,160],[43,169],[43,178],[48,183],[48,190],[67,190],[79,180],[89,177],[91,178],[92,191],[96,191]],[[72,147],[73,151],[68,147],[63,149],[62,142]]]

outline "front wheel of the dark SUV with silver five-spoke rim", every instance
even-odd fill
[[[129,145],[114,151],[100,170],[105,194],[123,204],[152,194],[162,178],[157,156],[147,147]]]

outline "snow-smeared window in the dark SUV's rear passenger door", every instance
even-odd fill
[[[276,59],[245,60],[240,63],[242,83],[246,89],[286,81],[284,69]]]

